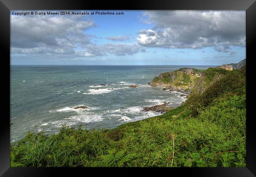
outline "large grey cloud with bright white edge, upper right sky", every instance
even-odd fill
[[[245,11],[146,11],[155,26],[141,30],[141,46],[202,49],[245,46]]]

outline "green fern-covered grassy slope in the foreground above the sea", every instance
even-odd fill
[[[28,133],[11,144],[11,167],[245,166],[245,121],[245,70],[234,70],[161,116],[111,130]]]

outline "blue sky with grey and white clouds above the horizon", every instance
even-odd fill
[[[222,65],[246,58],[246,11],[47,15],[61,11],[11,11],[11,65]]]

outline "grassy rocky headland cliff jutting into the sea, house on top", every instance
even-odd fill
[[[220,68],[197,70],[195,68],[180,68],[173,72],[165,72],[151,81],[152,87],[165,87],[165,90],[203,92],[212,81],[218,80],[228,72]]]

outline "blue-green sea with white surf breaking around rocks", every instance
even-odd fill
[[[214,66],[10,66],[10,141],[28,131],[58,133],[63,124],[83,129],[113,129],[158,116],[143,107],[185,101],[182,92],[148,85],[163,72]],[[104,84],[106,86],[100,86]],[[130,88],[135,84],[138,87]],[[86,106],[87,109],[74,109]]]

